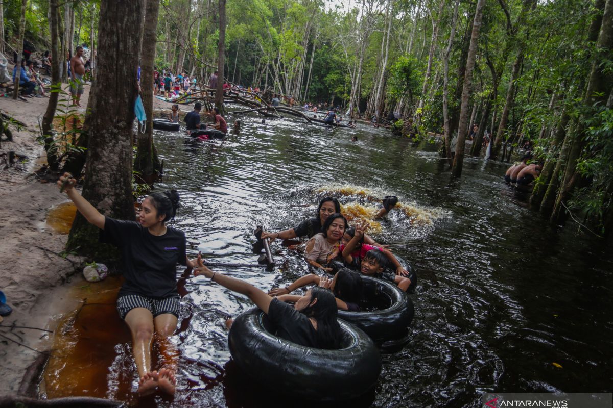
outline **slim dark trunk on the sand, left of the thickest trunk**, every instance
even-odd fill
[[[58,0],[49,0],[49,31],[51,34],[51,55],[58,54]],[[62,85],[61,78],[59,78],[59,59],[51,57],[51,83],[54,86],[60,87]],[[47,110],[42,117],[42,133],[45,135],[45,152],[47,152],[47,164],[51,171],[57,171],[59,168],[58,155],[56,150],[53,149],[53,133],[51,132],[51,124],[53,123],[53,117],[55,117],[55,110],[58,107],[59,92],[49,93],[49,102],[47,103]]]

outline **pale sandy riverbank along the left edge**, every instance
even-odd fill
[[[89,89],[87,84],[83,106]],[[28,347],[43,351],[50,345],[46,332],[10,326],[55,330],[58,317],[77,304],[67,296],[67,283],[82,280],[77,273],[81,259],[58,256],[67,236],[45,226],[48,209],[66,202],[66,195],[59,194],[55,184],[40,182],[32,175],[45,163],[44,149],[36,137],[48,98],[27,100],[0,98],[2,112],[27,125],[20,132],[13,129],[12,142],[0,142],[0,154],[13,151],[28,157],[23,169],[0,171],[0,290],[13,308],[0,323],[0,395],[17,393],[26,368],[39,354]],[[154,100],[154,109],[169,110],[170,105]]]

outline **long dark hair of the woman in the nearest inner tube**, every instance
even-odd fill
[[[311,289],[311,303],[300,311],[309,318],[317,322],[315,331],[318,347],[321,349],[338,349],[340,347],[342,332],[338,324],[337,301],[332,292],[323,287],[313,287]]]

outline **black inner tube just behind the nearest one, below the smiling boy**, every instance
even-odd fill
[[[402,289],[393,283],[370,276],[362,278],[362,311],[339,310],[338,317],[364,330],[376,342],[404,338],[415,309]]]

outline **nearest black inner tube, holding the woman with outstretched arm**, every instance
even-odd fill
[[[362,330],[339,324],[341,349],[314,349],[273,335],[266,314],[254,308],[232,324],[230,354],[246,374],[273,391],[314,401],[355,398],[375,386],[381,355]]]

